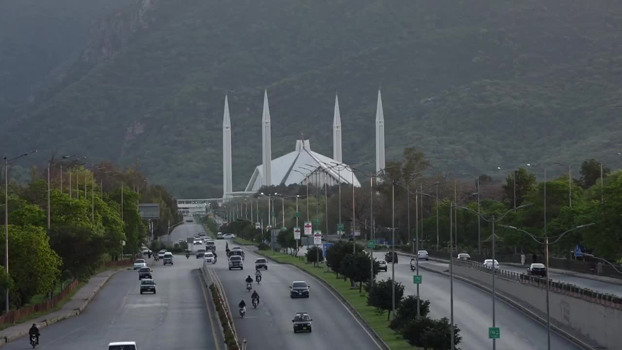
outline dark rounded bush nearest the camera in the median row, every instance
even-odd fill
[[[454,345],[458,345],[462,341],[462,337],[458,335],[460,328],[453,327]],[[402,328],[401,333],[408,343],[424,348],[424,350],[450,350],[452,348],[451,328],[446,317],[438,320],[427,317],[413,319]]]

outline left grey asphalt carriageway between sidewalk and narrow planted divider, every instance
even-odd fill
[[[175,230],[187,230],[181,225]],[[78,316],[41,329],[40,350],[105,349],[113,341],[136,341],[139,349],[216,349],[199,279],[200,263],[175,257],[175,265],[149,260],[157,294],[139,293],[138,273],[114,275]],[[217,327],[217,326],[216,326]],[[216,328],[218,329],[218,328]],[[4,346],[24,350],[26,337]]]

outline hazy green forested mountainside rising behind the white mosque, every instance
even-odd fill
[[[141,0],[101,23],[132,35],[70,67],[0,146],[140,158],[178,196],[218,196],[225,94],[240,190],[261,163],[264,88],[274,158],[301,132],[332,155],[338,92],[349,163],[374,157],[381,88],[388,159],[415,146],[437,170],[494,176],[620,150],[618,1]]]

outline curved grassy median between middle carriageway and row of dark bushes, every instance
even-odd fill
[[[343,278],[335,277],[335,274],[326,272],[326,267],[313,267],[313,264],[307,264],[300,257],[292,257],[284,253],[274,252],[274,250],[256,250],[256,253],[272,258],[279,263],[289,263],[302,268],[306,272],[311,273],[317,278],[321,278],[329,285],[333,286],[354,308],[363,316],[363,319],[376,333],[383,339],[391,350],[412,350],[418,349],[409,344],[402,336],[391,328],[387,321],[387,315],[378,315],[376,308],[367,305],[367,296],[365,291],[358,292],[358,288],[350,289],[350,282],[344,281]]]

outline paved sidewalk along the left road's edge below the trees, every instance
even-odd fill
[[[100,272],[91,277],[88,282],[81,286],[80,289],[65,303],[65,305],[58,311],[53,311],[48,315],[42,315],[38,319],[32,319],[31,321],[25,321],[24,323],[16,323],[0,331],[0,347],[6,343],[11,343],[17,338],[26,336],[33,323],[37,324],[39,329],[50,326],[50,324],[57,323],[63,319],[67,319],[76,315],[80,315],[82,310],[86,308],[86,305],[95,298],[95,295],[100,291],[101,287],[106,284],[109,278],[124,268],[117,268],[116,270],[106,270]]]

